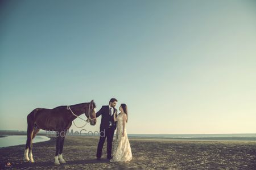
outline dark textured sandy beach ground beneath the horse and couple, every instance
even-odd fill
[[[130,139],[133,160],[110,163],[106,142],[96,160],[98,137],[67,136],[65,164],[54,165],[55,137],[34,143],[35,163],[23,161],[25,145],[0,148],[0,162],[13,169],[256,169],[255,141],[175,141]]]

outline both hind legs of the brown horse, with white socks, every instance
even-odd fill
[[[34,125],[31,123],[30,117],[27,118],[27,143],[26,148],[24,151],[24,159],[31,163],[34,162],[33,155],[32,155],[32,134],[34,131]],[[30,158],[28,158],[28,153],[30,153]]]

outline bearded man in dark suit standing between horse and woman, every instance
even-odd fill
[[[107,153],[108,159],[112,159],[112,142],[114,137],[114,131],[116,129],[114,114],[117,114],[117,109],[115,109],[115,105],[117,105],[117,99],[110,99],[109,105],[104,105],[96,113],[96,117],[101,115],[101,125],[100,125],[100,141],[98,142],[97,148],[97,159],[101,159],[102,148],[105,143],[105,139],[107,139]]]

